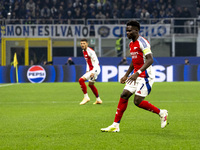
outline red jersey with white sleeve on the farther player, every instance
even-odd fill
[[[95,71],[100,69],[99,60],[92,48],[87,47],[86,51],[83,50],[83,55],[87,63],[86,71]]]

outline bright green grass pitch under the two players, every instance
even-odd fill
[[[1,86],[1,85],[0,85]],[[139,109],[133,96],[119,133],[101,132],[112,124],[124,85],[96,83],[102,105],[83,98],[78,83],[14,84],[0,87],[0,149],[200,149],[200,83],[154,83],[146,98],[169,111],[169,126]]]

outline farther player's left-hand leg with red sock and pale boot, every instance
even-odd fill
[[[80,84],[81,89],[82,89],[83,94],[84,94],[84,98],[81,101],[80,105],[84,105],[85,103],[90,101],[90,98],[89,98],[88,93],[87,93],[87,86],[85,84],[85,81],[88,80],[88,78],[89,78],[89,75],[88,75],[88,73],[86,73],[79,79],[79,84]]]

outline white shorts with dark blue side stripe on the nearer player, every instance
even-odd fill
[[[124,89],[131,93],[135,93],[135,95],[146,97],[150,94],[153,83],[154,79],[152,78],[138,77],[136,82],[132,82],[131,84],[126,83]]]

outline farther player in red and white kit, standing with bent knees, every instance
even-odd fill
[[[94,83],[101,71],[99,66],[99,60],[97,58],[97,55],[95,51],[88,47],[87,39],[82,39],[81,42],[81,48],[83,50],[83,56],[86,60],[86,73],[79,79],[79,84],[82,88],[82,91],[84,93],[84,98],[81,101],[80,105],[84,105],[87,102],[90,101],[90,98],[87,93],[87,86],[85,84],[86,80],[89,80],[89,87],[91,88],[92,92],[96,96],[96,101],[93,104],[102,104],[102,100],[99,97],[98,90],[94,86]]]

